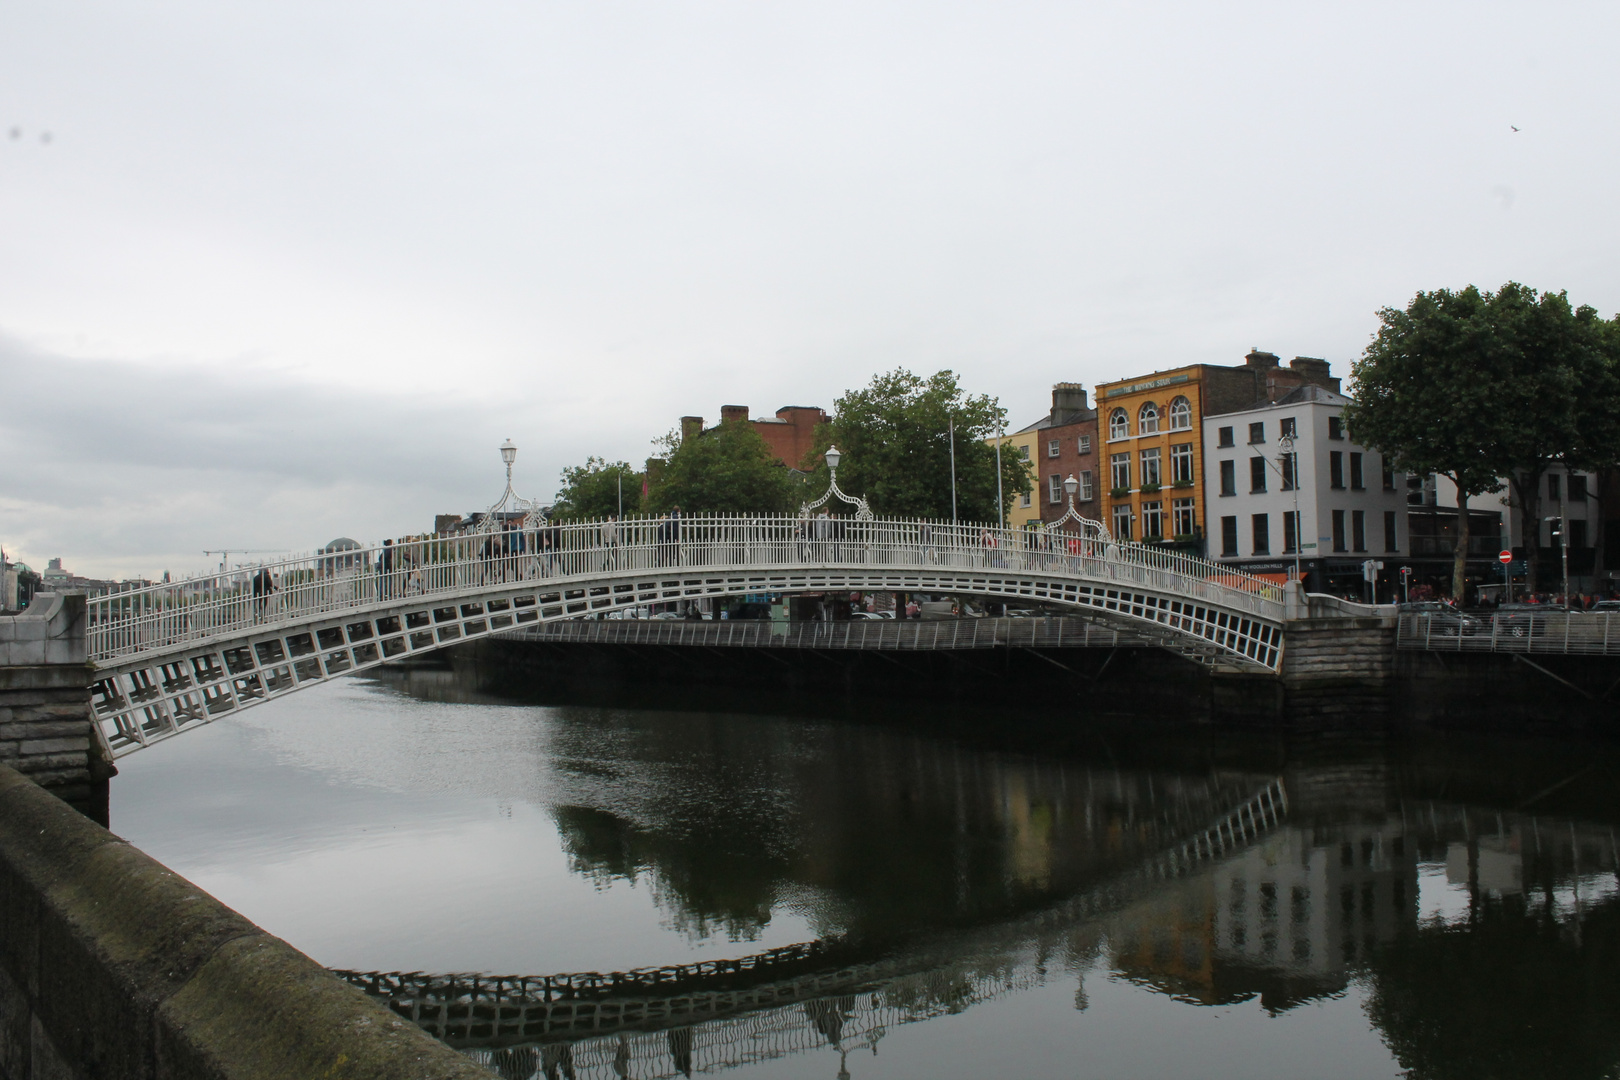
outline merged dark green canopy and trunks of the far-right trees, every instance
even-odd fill
[[[1495,293],[1473,285],[1418,293],[1405,311],[1380,311],[1379,322],[1351,369],[1349,434],[1395,470],[1448,476],[1460,507],[1508,476],[1529,526],[1552,461],[1594,468],[1620,455],[1620,334],[1592,308],[1508,282]],[[1458,597],[1466,513],[1460,526]]]

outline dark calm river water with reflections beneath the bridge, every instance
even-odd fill
[[[446,669],[120,769],[115,832],[507,1077],[1620,1075],[1612,743]]]

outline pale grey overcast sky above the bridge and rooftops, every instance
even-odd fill
[[[0,542],[421,531],[685,413],[1620,308],[1615,3],[0,5]],[[1513,131],[1513,128],[1518,131]]]

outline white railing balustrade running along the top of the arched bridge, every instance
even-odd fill
[[[109,661],[261,625],[499,585],[782,567],[1030,572],[1178,594],[1260,619],[1281,617],[1280,589],[1270,581],[1181,551],[1097,536],[928,520],[633,518],[316,552],[92,597],[89,654]],[[256,588],[259,575],[271,575],[274,588]]]

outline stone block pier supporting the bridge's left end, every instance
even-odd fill
[[[0,763],[105,824],[112,751],[91,712],[86,602],[40,593],[0,617]]]

